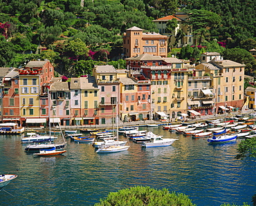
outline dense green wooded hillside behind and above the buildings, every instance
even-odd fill
[[[90,73],[94,64],[125,68],[122,33],[134,25],[157,32],[152,20],[177,11],[194,19],[199,52],[239,48],[238,55],[246,56],[246,50],[256,47],[254,10],[253,0],[0,0],[0,66],[49,59],[66,76]],[[206,14],[211,14],[210,24],[205,24]],[[248,60],[246,71],[255,69],[255,61]]]

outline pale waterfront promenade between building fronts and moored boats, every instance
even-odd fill
[[[244,112],[241,111],[237,111],[237,112],[230,112],[226,114],[226,117],[231,117],[231,116],[236,116],[237,114],[252,114],[254,113],[254,110],[245,110]],[[196,117],[196,119],[190,119],[188,118],[187,121],[188,122],[202,122],[205,120],[211,120],[211,119],[224,119],[225,118],[225,114],[216,114],[216,115],[207,115],[207,116],[199,116]],[[181,123],[182,120],[176,120],[176,119],[172,119],[172,121],[155,121],[155,120],[143,120],[143,121],[131,121],[131,122],[122,122],[120,121],[118,123],[118,127],[129,127],[129,126],[143,126],[143,125],[147,125],[147,124],[157,124],[157,125],[167,125],[167,124],[177,124],[177,123]],[[100,124],[100,125],[61,125],[60,126],[62,128],[62,130],[76,130],[76,129],[87,129],[87,128],[99,128],[99,129],[113,129],[113,127],[115,128],[116,125],[112,125],[112,124]],[[44,130],[40,127],[26,127],[26,130]],[[52,130],[57,130],[58,127],[53,127]]]

